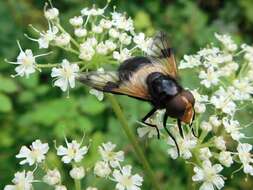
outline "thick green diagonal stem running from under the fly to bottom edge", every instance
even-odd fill
[[[110,101],[112,109],[115,112],[115,115],[117,116],[120,124],[122,125],[123,130],[125,131],[128,139],[132,143],[134,151],[135,151],[137,157],[139,158],[140,162],[142,163],[145,173],[147,174],[147,177],[149,178],[150,182],[153,184],[154,189],[159,190],[160,187],[158,185],[158,181],[155,179],[153,171],[152,171],[152,169],[151,169],[151,167],[150,167],[150,165],[149,165],[149,163],[148,163],[148,161],[147,161],[147,159],[146,159],[146,157],[145,157],[145,155],[138,143],[138,140],[136,139],[135,135],[133,134],[133,132],[129,128],[127,119],[125,118],[123,111],[120,108],[119,103],[117,102],[117,100],[115,99],[115,97],[113,95],[107,94],[106,97]]]

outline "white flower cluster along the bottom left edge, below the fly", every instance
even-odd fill
[[[80,184],[81,189],[80,182],[85,178],[86,173],[90,171],[89,168],[85,168],[81,163],[84,156],[88,153],[89,147],[82,145],[83,140],[79,143],[76,140],[68,142],[65,139],[65,142],[66,146],[60,145],[55,147],[56,154],[61,157],[61,161],[64,164],[71,165],[72,168],[69,171],[69,176],[75,183]],[[130,165],[121,167],[120,163],[124,161],[124,152],[115,152],[115,148],[116,145],[111,142],[103,143],[98,147],[102,160],[96,162],[94,165],[95,176],[110,179],[116,183],[116,189],[119,190],[140,189],[143,181],[142,177],[138,174],[132,175],[132,166]],[[29,166],[35,165],[35,169],[15,173],[12,180],[13,184],[6,185],[4,190],[31,190],[34,189],[33,183],[44,183],[54,187],[55,190],[67,190],[66,185],[63,185],[60,171],[57,168],[49,168],[46,163],[48,151],[48,143],[42,143],[40,140],[35,140],[29,148],[22,146],[16,157],[23,159],[20,162],[21,165],[26,163]],[[38,168],[44,171],[44,176],[40,179],[34,179]],[[87,187],[86,190],[97,190],[97,188]]]

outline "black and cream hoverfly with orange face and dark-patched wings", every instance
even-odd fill
[[[142,122],[158,127],[147,120],[157,110],[165,109],[163,127],[173,139],[179,154],[176,139],[166,127],[168,117],[176,118],[180,135],[183,137],[181,122],[192,124],[194,120],[194,102],[192,93],[178,82],[177,65],[173,50],[163,32],[159,32],[150,47],[151,55],[132,57],[125,60],[117,71],[88,72],[80,74],[79,81],[100,91],[127,95],[150,102],[152,110],[142,118]],[[194,132],[193,132],[194,134]]]

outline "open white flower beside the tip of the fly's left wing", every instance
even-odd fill
[[[74,88],[78,71],[77,64],[70,64],[68,60],[63,59],[60,68],[52,69],[51,76],[56,77],[54,85],[60,87],[62,91],[68,90],[69,87]]]

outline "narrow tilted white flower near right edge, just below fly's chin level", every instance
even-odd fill
[[[240,123],[236,120],[229,120],[227,117],[222,119],[222,123],[225,127],[227,133],[229,133],[232,139],[239,141],[241,138],[244,138],[245,135],[240,132]]]

